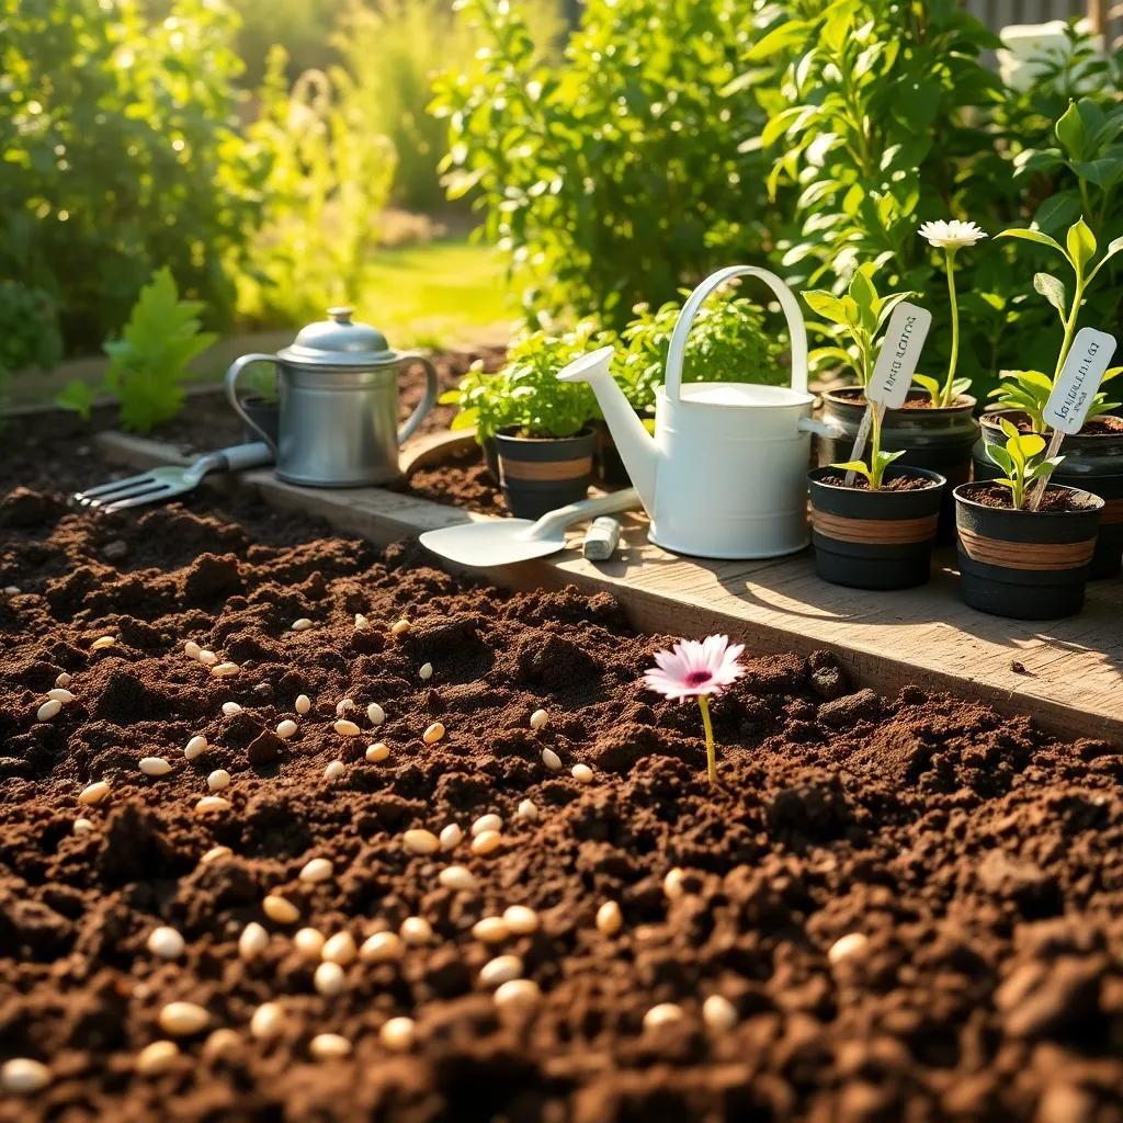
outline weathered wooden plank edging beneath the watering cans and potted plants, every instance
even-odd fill
[[[175,458],[167,446],[116,433],[101,442],[136,466]],[[266,469],[245,474],[240,485],[275,506],[319,515],[380,545],[482,518],[376,487],[294,487]],[[728,631],[765,652],[830,648],[857,681],[879,690],[919,683],[990,702],[1002,712],[1033,714],[1068,737],[1123,742],[1123,581],[1090,584],[1085,612],[1071,620],[1019,622],[959,601],[950,549],[938,557],[930,585],[865,593],[821,582],[806,551],[768,562],[677,557],[647,541],[639,515],[628,519],[624,538],[620,555],[606,563],[586,562],[570,549],[473,572],[508,587],[574,584],[611,592],[648,631]],[[573,541],[579,542],[579,532]]]

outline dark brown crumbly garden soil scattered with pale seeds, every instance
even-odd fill
[[[75,512],[63,490],[108,467],[71,424],[9,429],[0,465],[0,587],[20,590],[0,596],[0,1060],[38,1058],[53,1077],[0,1094],[4,1123],[1123,1119],[1116,748],[916,686],[856,690],[825,654],[750,652],[714,706],[714,792],[697,710],[640,683],[665,639],[632,632],[609,596],[467,586],[410,549],[208,492]],[[292,632],[300,617],[314,624]],[[413,626],[395,638],[401,617]],[[102,634],[116,645],[93,650]],[[240,673],[213,678],[186,639]],[[37,722],[62,672],[75,700]],[[313,710],[280,740],[300,693]],[[347,696],[358,738],[332,729]],[[231,700],[244,710],[223,716]],[[387,714],[376,733],[369,701]],[[550,721],[532,733],[538,706]],[[437,720],[447,737],[424,747]],[[212,748],[188,761],[195,733]],[[391,749],[381,765],[363,759],[375,739]],[[145,756],[171,774],[144,776]],[[345,773],[329,782],[334,759]],[[578,761],[588,786],[569,775]],[[220,767],[232,807],[199,814]],[[80,809],[99,779],[109,797]],[[528,797],[537,823],[514,818]],[[505,824],[491,857],[402,849],[408,828],[486,812]],[[75,836],[83,813],[94,829]],[[202,864],[216,844],[232,853]],[[332,861],[330,880],[298,879],[312,857]],[[451,861],[478,889],[439,886]],[[675,867],[684,892],[668,896]],[[325,933],[417,914],[436,939],[348,967],[344,993],[322,997],[296,925],[263,915],[271,891]],[[624,921],[612,937],[594,922],[608,900]],[[491,949],[472,937],[512,904],[538,911],[536,933]],[[249,921],[271,940],[245,961]],[[157,924],[184,935],[182,958],[146,949]],[[867,942],[832,962],[849,933]],[[477,975],[500,952],[540,985],[536,1013],[497,1015]],[[704,1028],[713,994],[734,1028]],[[188,1037],[166,1072],[141,1076],[137,1053],[176,999],[237,1041],[213,1056]],[[264,1001],[285,1011],[271,1041],[247,1030]],[[683,1017],[645,1029],[666,1002]],[[417,1022],[405,1054],[380,1043],[394,1015]],[[320,1032],[353,1056],[312,1060]]]

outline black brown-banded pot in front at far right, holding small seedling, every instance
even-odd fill
[[[1084,606],[1084,586],[1104,501],[1075,487],[1078,511],[1015,511],[971,499],[985,481],[955,490],[959,593],[980,612],[1014,620],[1059,620]]]

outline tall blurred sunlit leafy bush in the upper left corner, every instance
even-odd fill
[[[158,265],[229,323],[266,166],[235,130],[229,11],[0,0],[0,275],[55,300],[71,351],[116,330]]]

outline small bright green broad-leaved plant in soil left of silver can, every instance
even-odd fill
[[[170,421],[183,408],[188,364],[216,339],[200,331],[202,307],[180,300],[171,270],[159,270],[140,290],[120,339],[106,344],[109,369],[102,384],[71,382],[58,404],[85,419],[98,394],[106,393],[117,399],[126,429],[152,432]]]

